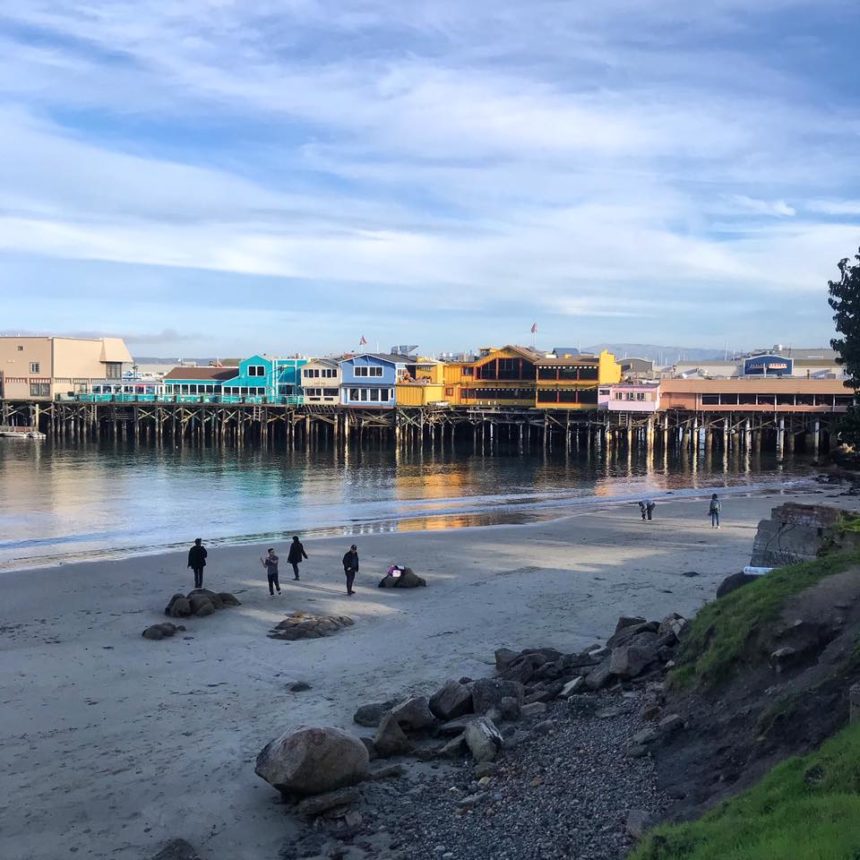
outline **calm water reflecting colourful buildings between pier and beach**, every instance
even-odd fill
[[[0,570],[142,554],[193,538],[521,523],[576,507],[802,481],[801,461],[685,452],[520,456],[271,452],[0,439]]]

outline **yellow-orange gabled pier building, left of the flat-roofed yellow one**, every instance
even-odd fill
[[[445,365],[445,398],[458,406],[533,407],[542,357],[525,346],[484,347],[472,361]]]

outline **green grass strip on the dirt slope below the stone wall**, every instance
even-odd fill
[[[762,627],[779,617],[790,597],[857,564],[860,552],[846,552],[780,567],[703,606],[683,637],[671,683],[688,689],[725,681],[745,659],[757,658]]]

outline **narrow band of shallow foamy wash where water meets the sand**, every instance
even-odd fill
[[[664,490],[650,494],[658,504],[673,501],[701,501],[710,496],[715,490],[719,491],[721,498],[744,498],[760,495],[785,495],[798,493],[814,493],[819,487],[816,479],[811,476],[795,476],[785,480],[774,479],[755,484],[718,485],[708,487],[681,488],[678,490]],[[424,514],[410,516],[404,514],[398,519],[381,520],[354,520],[352,525],[338,525],[331,527],[317,527],[305,529],[300,532],[302,540],[337,540],[340,538],[363,538],[370,535],[397,535],[428,532],[461,532],[476,529],[508,528],[514,526],[530,526],[545,522],[556,522],[570,517],[583,516],[604,509],[620,508],[625,505],[635,505],[643,494],[623,497],[605,498],[596,495],[582,496],[576,498],[565,498],[557,503],[523,504],[522,510],[504,512],[492,509],[485,511],[466,511],[460,514]],[[468,498],[465,499],[468,501]],[[501,507],[501,506],[500,506]],[[573,510],[571,510],[573,509]],[[262,547],[263,544],[273,542],[286,542],[292,537],[293,532],[284,531],[277,533],[233,535],[223,538],[204,538],[207,547],[220,549],[232,549],[236,547]],[[174,552],[187,550],[193,538],[189,537],[182,542],[176,542],[159,546],[124,547],[117,550],[93,550],[88,554],[82,554],[69,561],[57,559],[56,556],[40,558],[36,563],[30,564],[27,560],[22,564],[10,562],[10,565],[0,564],[0,582],[10,573],[23,571],[38,572],[54,568],[68,568],[79,564],[99,564],[123,561],[134,558],[157,558],[170,555]],[[74,539],[69,541],[74,545]],[[57,546],[57,544],[51,544]]]

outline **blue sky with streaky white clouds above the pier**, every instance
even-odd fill
[[[4,0],[0,331],[826,344],[855,0]]]

